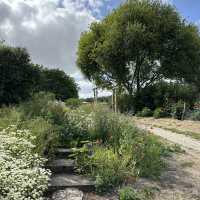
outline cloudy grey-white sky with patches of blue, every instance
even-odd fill
[[[34,63],[60,68],[75,78],[80,97],[93,85],[76,66],[80,34],[124,0],[0,0],[0,40],[25,47]],[[200,27],[200,0],[163,0]],[[100,91],[101,96],[108,91]]]

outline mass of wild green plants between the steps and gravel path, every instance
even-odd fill
[[[77,167],[96,180],[98,191],[118,186],[126,179],[158,178],[165,168],[163,157],[171,149],[156,136],[135,127],[129,117],[107,110],[90,116],[93,143],[77,155]]]

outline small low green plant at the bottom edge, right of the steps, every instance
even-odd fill
[[[119,191],[119,200],[144,200],[144,196],[131,187],[124,187]]]

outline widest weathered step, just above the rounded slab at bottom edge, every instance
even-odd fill
[[[49,192],[76,188],[84,192],[93,191],[94,182],[81,175],[54,174],[49,185]]]

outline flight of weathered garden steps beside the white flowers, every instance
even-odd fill
[[[76,174],[74,160],[69,159],[71,149],[58,148],[56,159],[47,163],[52,171],[48,194],[51,200],[82,200],[83,192],[94,190],[94,182]]]

